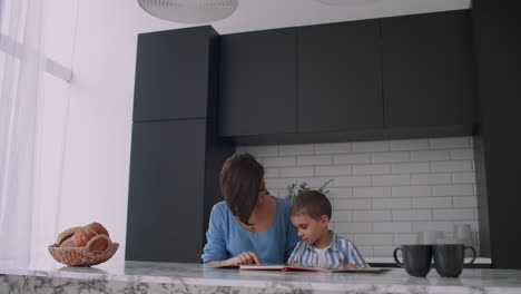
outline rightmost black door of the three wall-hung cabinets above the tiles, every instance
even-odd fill
[[[473,51],[466,10],[385,18],[385,127],[473,125]]]

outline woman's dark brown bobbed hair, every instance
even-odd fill
[[[258,193],[263,189],[264,167],[250,154],[234,154],[223,165],[220,193],[232,214],[242,223],[248,223]]]

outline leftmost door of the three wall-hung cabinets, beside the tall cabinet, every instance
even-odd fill
[[[296,133],[296,29],[220,37],[219,134]]]

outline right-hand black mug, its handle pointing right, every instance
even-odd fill
[[[474,255],[469,263],[464,263],[466,249],[471,249]],[[474,247],[463,244],[438,244],[433,245],[432,251],[436,272],[444,277],[460,276],[463,271],[463,264],[472,264],[476,255]]]

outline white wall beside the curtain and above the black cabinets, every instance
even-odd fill
[[[311,0],[240,0],[220,33],[469,8],[470,0],[380,0],[327,7]],[[59,228],[97,220],[124,256],[137,35],[181,28],[135,0],[78,0]]]

